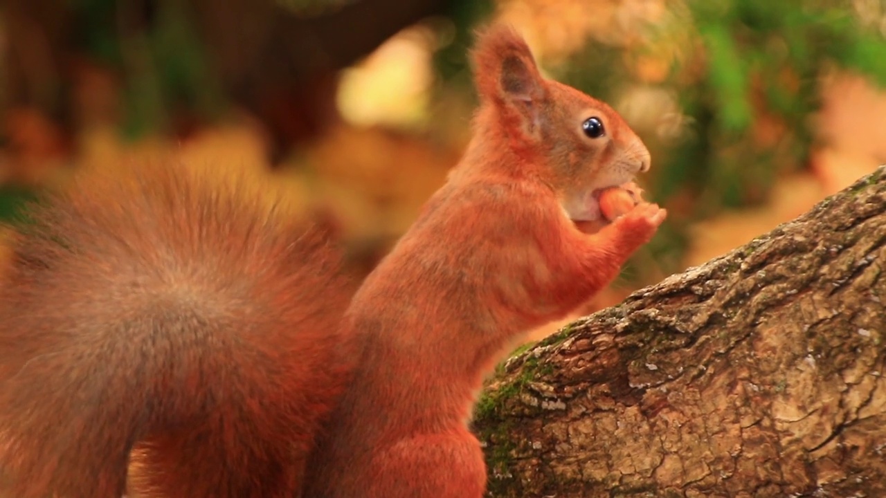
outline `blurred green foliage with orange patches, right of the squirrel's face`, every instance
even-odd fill
[[[682,114],[676,135],[647,135],[653,198],[696,198],[692,216],[766,198],[777,175],[805,167],[821,135],[812,120],[835,67],[886,86],[886,41],[848,0],[671,2],[640,43],[592,42],[564,78],[604,100],[626,82],[664,89]],[[670,53],[668,53],[670,52]],[[640,82],[636,60],[668,58],[660,82]]]

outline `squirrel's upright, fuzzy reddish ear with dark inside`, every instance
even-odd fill
[[[530,102],[544,95],[544,81],[523,37],[513,27],[495,25],[478,32],[472,52],[480,98]]]

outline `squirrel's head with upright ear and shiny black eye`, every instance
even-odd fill
[[[497,134],[517,164],[560,196],[575,221],[600,217],[597,193],[649,170],[649,151],[609,105],[541,76],[523,37],[507,26],[479,33],[473,51],[478,132]]]

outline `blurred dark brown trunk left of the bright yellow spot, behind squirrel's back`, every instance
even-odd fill
[[[265,123],[276,159],[337,120],[340,69],[449,3],[359,0],[310,18],[274,0],[190,0],[190,7],[224,89]]]

